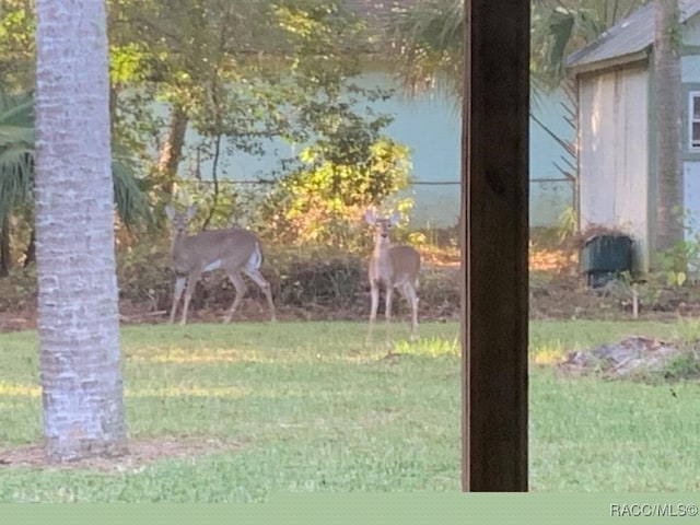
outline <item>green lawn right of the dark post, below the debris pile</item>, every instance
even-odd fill
[[[530,377],[530,487],[697,491],[698,385]]]

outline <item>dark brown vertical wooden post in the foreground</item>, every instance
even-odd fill
[[[527,490],[529,7],[465,2],[465,491]]]

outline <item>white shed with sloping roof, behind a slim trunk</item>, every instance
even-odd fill
[[[684,209],[700,217],[700,0],[680,1]],[[617,228],[649,269],[655,219],[654,3],[572,54],[579,101],[582,229]]]

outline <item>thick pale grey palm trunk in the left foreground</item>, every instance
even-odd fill
[[[36,258],[47,456],[126,452],[104,1],[36,0]]]

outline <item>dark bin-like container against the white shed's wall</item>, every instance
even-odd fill
[[[632,269],[632,238],[628,235],[595,235],[581,249],[581,270],[592,288],[604,287],[621,271]]]

